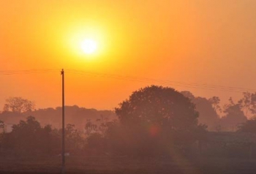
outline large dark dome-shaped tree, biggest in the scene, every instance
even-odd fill
[[[195,105],[173,88],[140,88],[115,110],[122,129],[119,132],[124,133],[119,137],[125,139],[119,143],[144,154],[163,153],[172,145],[189,145],[202,128],[197,124]]]

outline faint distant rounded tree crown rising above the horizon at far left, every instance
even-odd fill
[[[23,99],[22,97],[10,97],[6,99],[4,104],[4,111],[11,111],[15,113],[23,113],[26,111],[34,110],[34,102],[29,99]]]

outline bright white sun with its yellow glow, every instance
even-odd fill
[[[111,52],[110,40],[113,39],[109,36],[107,26],[90,22],[86,25],[72,23],[64,34],[64,46],[69,60],[75,64],[81,64],[81,62],[98,64],[104,61]]]

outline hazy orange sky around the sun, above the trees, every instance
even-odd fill
[[[166,83],[102,74],[256,89],[256,1],[0,1],[0,71],[77,69],[66,74],[66,103],[113,109],[132,91]],[[98,42],[93,56],[79,42]],[[0,75],[0,110],[7,97],[61,105],[60,72]],[[222,99],[240,93],[169,85]]]

